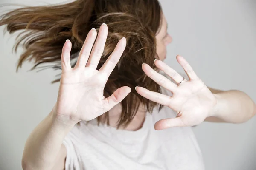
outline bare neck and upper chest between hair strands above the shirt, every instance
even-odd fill
[[[111,127],[117,127],[117,122],[119,117],[121,116],[122,107],[120,104],[114,106],[109,111],[109,124]],[[136,115],[132,119],[132,121],[126,127],[120,127],[123,130],[139,130],[145,121],[146,111],[145,109],[140,106]]]

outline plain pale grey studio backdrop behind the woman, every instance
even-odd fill
[[[3,3],[42,5],[61,0],[0,0]],[[175,56],[192,65],[205,84],[221,90],[238,89],[256,101],[256,1],[161,0],[173,42],[166,63],[183,69]],[[6,7],[1,7],[1,13]],[[26,63],[15,72],[15,36],[0,28],[0,170],[20,170],[29,133],[51,111],[59,71],[30,71]],[[242,113],[241,113],[242,114]],[[194,128],[206,170],[256,170],[256,117],[239,124],[204,122]]]

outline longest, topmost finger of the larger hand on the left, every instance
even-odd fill
[[[102,24],[102,26],[99,28],[99,34],[95,42],[95,45],[93,46],[93,50],[90,54],[90,58],[86,64],[86,67],[90,67],[93,69],[97,68],[99,64],[99,60],[102,57],[102,53],[104,51],[104,46],[107,40],[107,36],[108,36],[108,26],[106,24]]]

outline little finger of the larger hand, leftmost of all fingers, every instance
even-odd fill
[[[61,69],[63,71],[71,70],[70,65],[70,51],[72,48],[72,43],[70,40],[66,40],[66,42],[63,45],[62,53],[61,53]]]

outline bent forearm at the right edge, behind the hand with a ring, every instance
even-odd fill
[[[256,113],[256,105],[244,92],[237,90],[222,91],[214,94],[218,100],[212,116],[230,123],[242,123]]]

